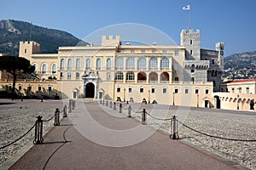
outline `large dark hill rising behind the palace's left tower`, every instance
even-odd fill
[[[49,29],[19,20],[0,20],[0,53],[18,56],[19,42],[28,41],[32,28],[32,41],[41,44],[41,53],[57,53],[61,46],[86,45],[66,31]]]

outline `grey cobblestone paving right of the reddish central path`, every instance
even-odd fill
[[[127,108],[126,106],[125,109]],[[158,118],[164,119],[175,115],[180,122],[202,133],[229,139],[256,140],[255,112],[137,104],[131,104],[131,108],[133,116],[138,121],[141,121],[141,113],[134,111],[142,111],[145,108],[150,115]],[[127,112],[124,110],[124,114]],[[159,121],[147,116],[147,124],[170,133],[171,121]],[[235,161],[241,166],[256,169],[256,142],[214,139],[195,133],[181,124],[178,124],[178,136],[180,140],[187,141],[230,161]]]

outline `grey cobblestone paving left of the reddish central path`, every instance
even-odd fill
[[[3,99],[0,104],[3,104]],[[9,144],[15,139],[20,138],[26,133],[36,122],[37,116],[43,116],[43,120],[48,120],[54,116],[55,108],[61,106],[62,102],[38,101],[18,102],[14,105],[0,105],[0,147]],[[54,119],[43,123],[44,133],[47,133],[49,127],[53,127]],[[34,128],[24,138],[20,139],[15,144],[0,150],[0,165],[9,157],[14,156],[17,151],[23,148],[26,144],[32,143],[34,139]]]

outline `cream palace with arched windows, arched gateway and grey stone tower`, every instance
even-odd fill
[[[180,45],[123,43],[120,36],[102,36],[100,45],[40,54],[39,43],[21,41],[19,55],[35,65],[38,79],[19,80],[16,88],[23,95],[59,94],[62,99],[213,105],[212,93],[222,83],[223,42],[214,50],[201,49],[200,31],[189,29],[181,31]],[[11,81],[2,75],[1,83]]]

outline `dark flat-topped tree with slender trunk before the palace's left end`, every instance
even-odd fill
[[[17,75],[30,74],[35,71],[35,67],[30,65],[28,59],[5,55],[0,57],[0,71],[7,71],[13,76],[12,99],[14,99]]]

